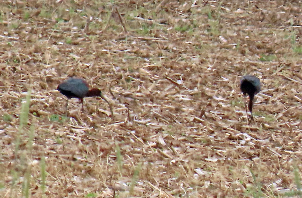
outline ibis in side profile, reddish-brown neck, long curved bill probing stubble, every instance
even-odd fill
[[[113,111],[111,104],[107,101],[107,99],[103,96],[101,90],[92,88],[89,90],[89,85],[88,83],[80,78],[68,78],[67,80],[61,82],[57,90],[63,95],[67,97],[67,102],[66,102],[66,109],[65,109],[65,115],[67,116],[67,107],[68,107],[68,100],[72,97],[79,98],[81,103],[82,103],[82,111],[84,110],[83,108],[83,100],[84,97],[94,97],[94,96],[99,96],[104,99],[105,102],[108,103],[111,116],[113,119]]]

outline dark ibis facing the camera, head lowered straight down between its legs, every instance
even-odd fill
[[[253,105],[254,105],[254,97],[255,94],[259,93],[261,89],[259,78],[252,75],[243,76],[240,81],[240,89],[244,96],[245,109],[246,109],[246,94],[249,95],[249,111],[251,112],[250,120],[247,114],[247,110],[246,110],[246,115],[247,115],[248,123],[251,123],[252,120],[254,120],[253,113],[252,113]]]

